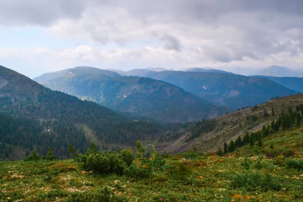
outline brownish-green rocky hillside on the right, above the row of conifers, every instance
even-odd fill
[[[271,99],[264,104],[244,108],[242,110],[216,117],[212,120],[195,122],[183,132],[163,134],[156,145],[158,151],[166,149],[169,153],[184,152],[195,148],[199,152],[216,151],[223,148],[224,142],[229,143],[246,133],[256,133],[263,126],[279,119],[282,112],[292,109],[300,111],[297,106],[303,104],[303,94],[295,94]]]

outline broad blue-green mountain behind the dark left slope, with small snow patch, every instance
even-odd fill
[[[47,73],[34,80],[45,87],[91,100],[113,110],[161,122],[214,118],[231,111],[163,81],[121,76],[93,67],[75,67]]]

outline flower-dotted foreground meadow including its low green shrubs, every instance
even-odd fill
[[[302,157],[298,155],[279,159],[277,164],[277,159],[219,157],[190,151],[186,158],[176,155],[164,162],[157,153],[142,158],[142,151],[134,159],[130,150],[88,150],[74,160],[1,162],[0,200],[303,200]]]

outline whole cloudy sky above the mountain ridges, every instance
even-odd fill
[[[302,0],[0,0],[0,65],[303,68]]]

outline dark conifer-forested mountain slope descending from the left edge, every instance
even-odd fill
[[[0,66],[0,144],[9,149],[1,159],[22,159],[26,151],[45,154],[52,146],[60,158],[68,157],[72,143],[79,151],[97,140],[131,145],[137,139],[153,139],[163,130],[158,123],[133,120],[93,102],[53,91]],[[11,147],[11,149],[10,149]],[[111,147],[111,146],[110,146]]]

